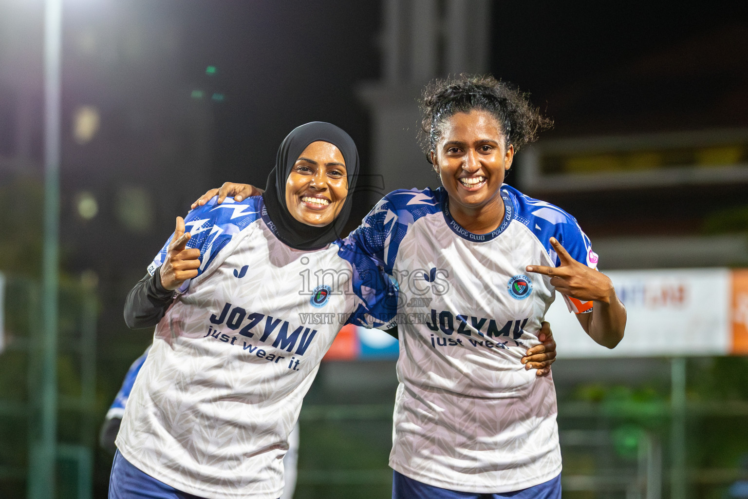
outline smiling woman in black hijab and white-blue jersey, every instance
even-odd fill
[[[158,325],[110,498],[281,495],[288,435],[335,335],[396,311],[387,277],[338,237],[357,174],[346,132],[307,123],[281,144],[262,197],[177,218],[127,299],[130,327]]]

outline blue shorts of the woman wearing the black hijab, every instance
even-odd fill
[[[114,454],[109,476],[109,499],[203,499],[156,480],[135,468],[120,454]]]

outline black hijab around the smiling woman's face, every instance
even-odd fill
[[[348,177],[348,196],[343,203],[340,213],[330,224],[324,227],[313,227],[302,224],[293,218],[286,206],[286,180],[293,164],[304,152],[309,144],[316,141],[325,141],[333,144],[343,153],[346,161],[346,172]],[[275,225],[275,234],[278,239],[285,242],[291,248],[300,250],[315,250],[324,248],[326,245],[340,237],[348,221],[351,212],[353,189],[358,178],[358,150],[353,139],[342,129],[331,123],[313,121],[296,127],[281,142],[278,147],[278,156],[275,156],[275,168],[270,171],[268,183],[265,187],[263,200],[270,220]]]

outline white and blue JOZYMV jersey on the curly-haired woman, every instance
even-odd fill
[[[597,262],[571,215],[506,185],[501,195],[491,233],[457,224],[440,188],[390,193],[350,236],[399,283],[390,466],[455,491],[510,492],[560,474],[553,379],[520,361],[539,344],[555,290],[525,267],[559,264],[551,236],[575,260]]]

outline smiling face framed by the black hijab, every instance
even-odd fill
[[[319,227],[330,224],[343,209],[347,196],[343,153],[329,142],[309,144],[286,180],[286,206],[293,218]]]

